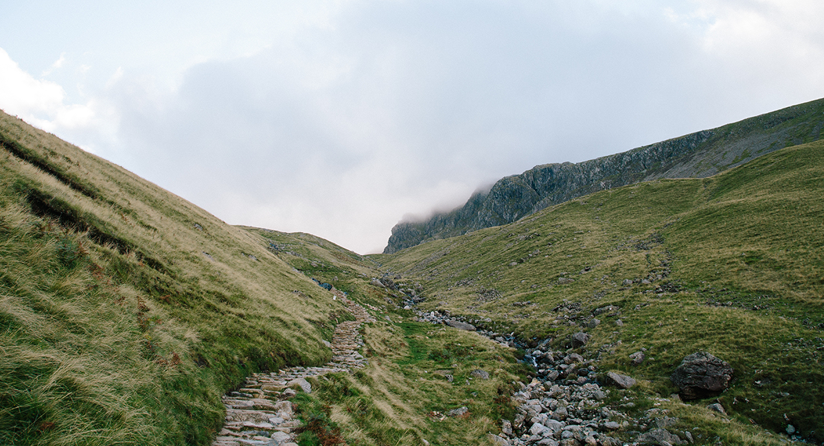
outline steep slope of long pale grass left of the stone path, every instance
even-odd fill
[[[0,114],[0,444],[208,444],[344,308],[260,235]]]

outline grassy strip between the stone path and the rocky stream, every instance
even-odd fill
[[[344,290],[377,319],[363,328],[361,353],[368,367],[313,380],[311,395],[295,400],[304,420],[320,420],[349,444],[419,445],[424,439],[483,444],[488,431],[499,429],[500,418],[512,417],[509,395],[527,371],[514,349],[475,333],[414,322],[414,315],[400,309],[403,293],[377,286],[373,279],[395,279],[396,288],[416,284],[385,277],[368,257],[314,235],[245,229],[265,237],[295,269]],[[488,380],[472,376],[479,368],[489,372]],[[446,415],[463,406],[469,414]],[[304,444],[325,444],[311,436],[303,439]]]

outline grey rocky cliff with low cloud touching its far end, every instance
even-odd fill
[[[499,179],[463,207],[428,221],[400,222],[384,253],[463,235],[602,189],[660,178],[707,177],[756,156],[822,138],[824,99],[595,160],[536,165]]]

